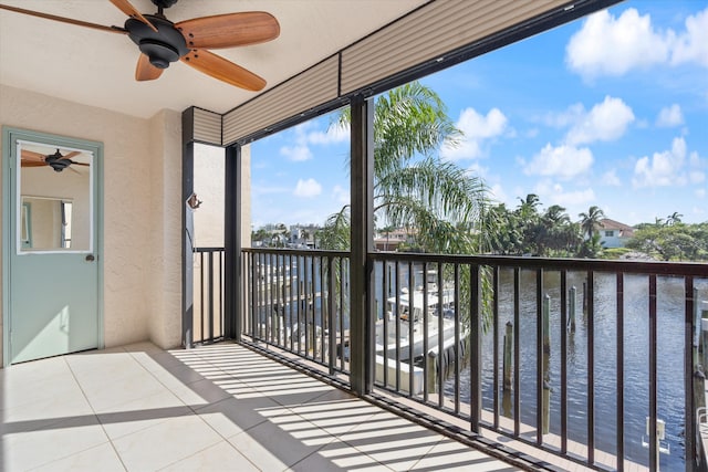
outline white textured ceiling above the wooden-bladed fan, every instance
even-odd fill
[[[266,90],[316,64],[428,0],[179,0],[173,22],[239,11],[267,11],[280,22],[274,41],[212,52],[268,81]],[[149,0],[131,0],[155,13]],[[104,25],[125,14],[108,0],[0,0],[0,3]],[[137,46],[127,35],[0,10],[0,84],[150,117],[199,106],[223,113],[256,96],[173,63],[150,82],[134,80]],[[2,106],[2,104],[0,104]]]

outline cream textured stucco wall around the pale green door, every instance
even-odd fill
[[[105,345],[178,345],[179,113],[146,120],[0,86],[0,125],[104,144]]]

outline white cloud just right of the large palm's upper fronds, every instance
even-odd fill
[[[485,139],[500,136],[507,129],[508,118],[499,108],[492,108],[481,115],[475,108],[465,108],[456,126],[465,136],[457,147],[444,146],[440,155],[446,159],[476,159],[482,156],[481,144]]]

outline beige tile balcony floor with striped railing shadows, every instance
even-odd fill
[[[3,471],[507,471],[233,344],[149,343],[0,370]]]

